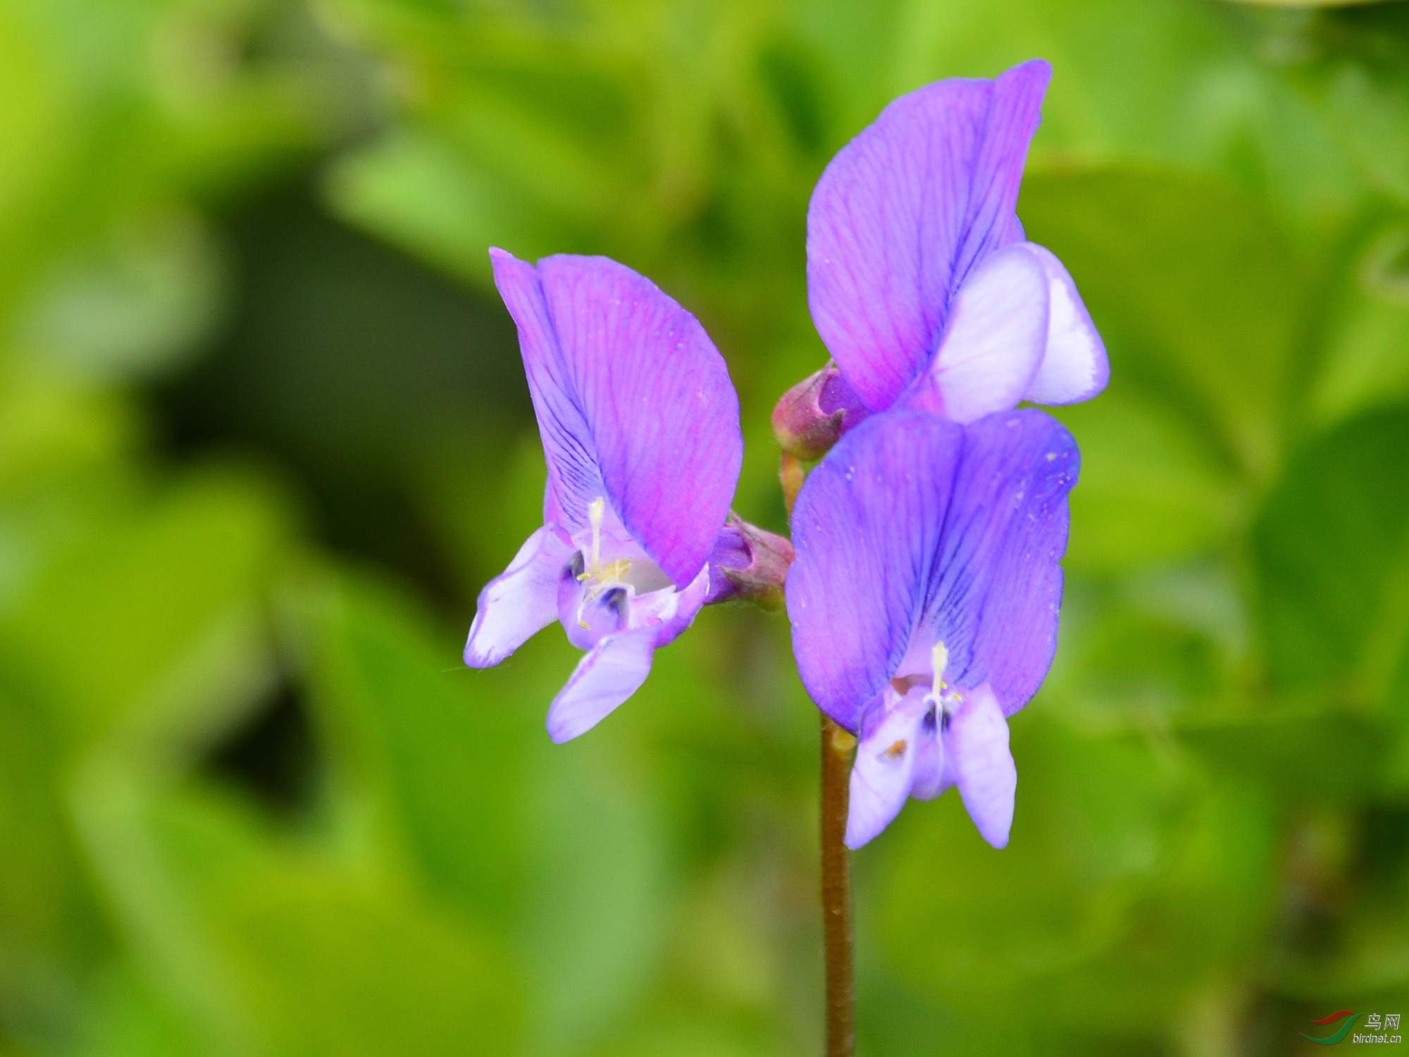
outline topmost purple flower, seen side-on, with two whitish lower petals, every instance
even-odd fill
[[[1106,351],[1075,283],[1023,240],[1013,211],[1050,78],[1034,59],[902,96],[817,182],[807,303],[871,412],[900,404],[969,423],[1105,388]]]

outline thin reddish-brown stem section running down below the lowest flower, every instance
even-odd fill
[[[827,979],[827,1057],[855,1053],[851,987],[851,861],[847,793],[857,740],[821,717],[821,936]]]

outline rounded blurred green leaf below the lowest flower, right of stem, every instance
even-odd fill
[[[1257,786],[1210,781],[1168,744],[1037,715],[1014,724],[1014,757],[1003,851],[957,796],[892,823],[881,939],[913,984],[1044,1030],[1141,1033],[1255,947],[1277,850]]]

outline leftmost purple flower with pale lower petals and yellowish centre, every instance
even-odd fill
[[[713,600],[710,555],[744,457],[738,397],[703,327],[630,268],[490,256],[548,488],[544,526],[479,595],[465,664],[499,664],[558,617],[588,651],[548,709],[548,733],[566,741],[630,698],[654,651]],[[747,565],[733,536],[727,564]]]

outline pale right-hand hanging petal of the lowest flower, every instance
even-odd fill
[[[964,808],[983,840],[1007,846],[1013,826],[1017,767],[1007,750],[1007,720],[988,685],[961,691],[962,700],[944,731],[945,765]]]

